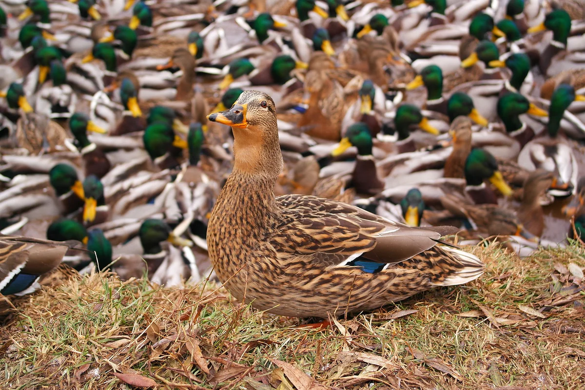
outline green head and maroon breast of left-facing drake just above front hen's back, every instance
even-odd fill
[[[353,168],[350,186],[354,187],[358,194],[377,194],[384,189],[384,183],[378,178],[376,162],[371,154],[373,141],[370,128],[363,122],[357,122],[347,127],[345,136],[339,146],[331,153],[339,156],[350,146],[357,147],[356,165]]]

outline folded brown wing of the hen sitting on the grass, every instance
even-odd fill
[[[283,224],[271,245],[281,256],[312,256],[325,267],[392,264],[431,249],[452,227],[409,227],[346,203],[315,196],[277,198]],[[359,264],[362,265],[363,264]],[[376,268],[376,264],[371,265]]]

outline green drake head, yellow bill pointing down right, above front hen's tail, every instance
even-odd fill
[[[465,180],[467,185],[480,185],[489,180],[504,196],[512,195],[512,189],[504,181],[498,170],[498,163],[490,152],[484,149],[472,149],[465,160]]]

